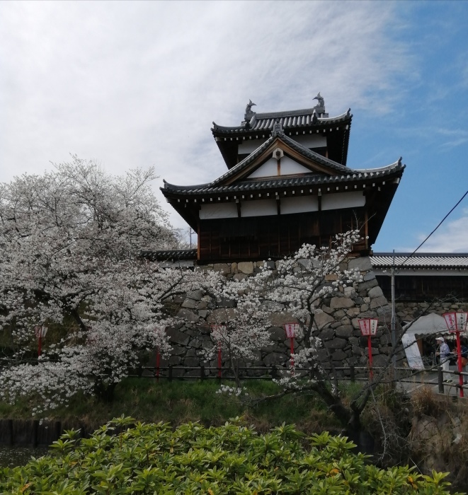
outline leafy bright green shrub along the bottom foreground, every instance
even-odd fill
[[[447,473],[381,470],[329,433],[285,425],[259,434],[241,420],[205,428],[114,419],[91,438],[67,431],[49,456],[0,471],[11,494],[448,494]]]

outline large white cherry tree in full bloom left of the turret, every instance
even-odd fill
[[[0,186],[0,325],[14,349],[0,371],[2,399],[38,394],[42,412],[78,390],[110,397],[142,351],[169,351],[166,302],[210,276],[139,259],[178,245],[154,178],[113,177],[72,156]],[[38,325],[59,338],[30,362]]]

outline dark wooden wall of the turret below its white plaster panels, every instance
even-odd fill
[[[329,246],[336,233],[356,228],[356,216],[362,221],[363,209],[201,220],[199,260],[274,259],[292,255],[304,243]],[[365,249],[365,241],[355,248]]]

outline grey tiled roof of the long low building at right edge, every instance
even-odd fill
[[[374,268],[392,268],[393,257],[395,256],[395,267],[405,269],[415,268],[468,268],[468,253],[438,253],[419,252],[411,256],[411,252],[375,252],[370,257],[370,262]]]

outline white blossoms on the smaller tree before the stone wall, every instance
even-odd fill
[[[359,240],[359,231],[350,231],[336,235],[331,248],[304,244],[292,257],[285,257],[274,265],[265,263],[258,274],[236,284],[231,283],[229,288],[224,289],[224,297],[237,297],[238,308],[242,306],[241,301],[246,300],[253,306],[251,313],[264,312],[267,320],[268,314],[287,313],[299,323],[297,338],[302,339],[304,347],[292,356],[290,369],[277,380],[282,387],[303,388],[315,383],[317,377],[325,376],[316,359],[321,342],[314,337],[314,332],[321,329],[316,327],[314,317],[321,312],[324,298],[363,281],[358,268],[346,269],[344,264],[353,244]],[[246,320],[250,320],[251,313],[246,311],[249,315]],[[237,329],[235,333],[240,334]],[[246,337],[244,339],[249,342]],[[251,349],[250,342],[244,348],[239,346],[239,358],[251,357]],[[312,376],[297,372],[296,368],[310,366],[316,371]]]

